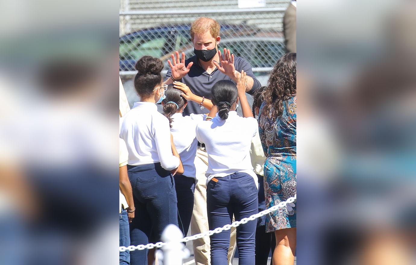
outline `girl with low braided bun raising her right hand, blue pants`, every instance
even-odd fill
[[[251,140],[258,131],[257,120],[245,96],[246,75],[238,73],[237,87],[232,81],[218,81],[212,88],[212,102],[218,114],[198,123],[196,138],[205,143],[208,153],[207,210],[210,229],[222,227],[258,212],[258,196],[250,159]],[[235,111],[240,101],[243,117]],[[237,227],[239,264],[255,264],[256,221]],[[230,230],[211,238],[211,264],[228,264]]]

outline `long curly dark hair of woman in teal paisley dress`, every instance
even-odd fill
[[[283,102],[296,96],[296,53],[283,55],[270,74],[264,92],[266,100],[262,113],[270,118],[280,117],[283,113]]]

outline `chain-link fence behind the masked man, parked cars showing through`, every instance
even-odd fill
[[[255,2],[255,1],[254,1]],[[265,7],[238,8],[238,0],[121,0],[120,75],[136,74],[134,64],[144,55],[167,60],[175,52],[193,56],[189,29],[198,17],[221,25],[218,47],[250,62],[262,84],[285,54],[283,16],[289,0],[267,0]]]

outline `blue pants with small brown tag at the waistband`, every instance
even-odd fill
[[[207,210],[209,229],[222,227],[235,220],[258,213],[257,189],[253,177],[246,173],[234,173],[211,180],[207,186]],[[238,264],[255,264],[256,221],[237,227]],[[230,230],[211,237],[211,264],[228,264]]]

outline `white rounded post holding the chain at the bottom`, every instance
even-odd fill
[[[185,244],[179,242],[182,238],[181,230],[173,224],[163,230],[161,239],[166,245],[161,248],[162,253],[159,252],[163,265],[180,265],[183,264],[183,258],[189,257],[189,250],[185,248]]]

